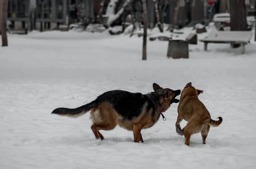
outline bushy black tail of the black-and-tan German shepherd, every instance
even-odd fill
[[[77,118],[81,115],[84,115],[85,113],[87,113],[88,111],[90,111],[91,109],[96,108],[96,107],[97,107],[97,102],[95,100],[95,101],[92,101],[92,102],[85,104],[81,107],[77,107],[75,109],[60,107],[60,108],[53,110],[51,114],[58,114],[58,115],[64,115],[64,116]]]

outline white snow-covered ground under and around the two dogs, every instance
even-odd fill
[[[206,34],[200,35],[205,36]],[[0,169],[254,169],[256,166],[256,44],[190,45],[189,59],[166,59],[168,42],[107,33],[33,32],[9,35],[0,48]],[[177,135],[177,105],[153,127],[144,143],[116,127],[94,138],[89,113],[79,118],[50,114],[78,107],[114,89],[151,92],[153,82],[204,90],[201,101],[219,127],[207,144],[192,135],[190,147]],[[186,121],[181,123],[181,127]]]

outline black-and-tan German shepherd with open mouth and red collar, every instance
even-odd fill
[[[90,111],[90,119],[93,121],[91,129],[96,139],[104,139],[99,130],[113,130],[119,124],[120,127],[133,131],[134,142],[144,142],[141,130],[152,127],[170,104],[179,102],[175,97],[180,95],[180,90],[163,89],[156,83],[153,84],[153,89],[154,92],[148,94],[107,91],[81,107],[57,108],[52,114],[79,117]]]

